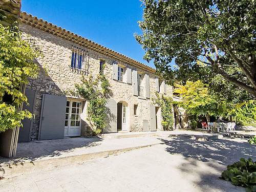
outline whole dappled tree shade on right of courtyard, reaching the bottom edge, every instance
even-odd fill
[[[238,139],[218,139],[197,141],[192,139],[160,139],[166,144],[169,154],[180,154],[184,162],[177,167],[183,173],[199,176],[194,185],[201,191],[245,191],[245,188],[233,186],[220,179],[226,165],[240,158],[251,157],[256,161],[256,146]]]

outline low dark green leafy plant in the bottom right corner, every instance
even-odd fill
[[[256,191],[256,162],[251,158],[241,158],[240,161],[228,165],[221,176],[233,185],[246,187],[247,191]]]

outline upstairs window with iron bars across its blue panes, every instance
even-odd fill
[[[71,68],[88,72],[88,52],[78,47],[72,47]]]

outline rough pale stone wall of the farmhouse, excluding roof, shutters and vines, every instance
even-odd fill
[[[40,67],[40,72],[37,79],[30,79],[28,87],[37,91],[36,106],[35,106],[35,120],[32,129],[32,139],[37,139],[39,129],[39,119],[41,111],[42,94],[55,94],[65,95],[66,91],[74,90],[74,84],[79,83],[81,73],[73,71],[70,68],[72,46],[75,45],[66,39],[62,39],[53,34],[41,31],[40,29],[31,27],[29,25],[20,24],[20,29],[24,32],[24,38],[32,38],[35,40],[35,44],[39,46],[44,54],[44,57],[37,58],[36,62]],[[82,47],[80,47],[82,48]],[[86,48],[83,48],[86,49]],[[125,82],[113,80],[113,58],[105,56],[93,50],[87,49],[89,55],[89,74],[96,76],[99,73],[100,59],[105,60],[104,74],[108,77],[111,90],[113,92],[113,98],[116,102],[124,101],[128,104],[129,108],[129,130],[130,131],[142,131],[143,120],[148,120],[150,124],[150,105],[152,105],[151,99],[140,98],[133,95],[133,86]],[[118,60],[117,60],[118,61]],[[119,62],[120,65],[129,66],[129,63]],[[136,69],[133,66],[129,66],[131,69]],[[148,74],[150,77],[150,94],[151,98],[155,96],[156,83],[155,74],[136,69],[138,73]],[[172,96],[172,87],[166,86],[166,95]],[[160,88],[160,92],[163,93],[163,86]],[[67,96],[69,97],[69,96]],[[138,114],[135,116],[134,104],[138,104]],[[161,126],[158,127],[162,129]],[[82,133],[86,133],[86,123],[82,123]]]

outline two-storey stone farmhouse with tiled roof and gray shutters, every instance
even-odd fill
[[[34,118],[24,120],[19,141],[87,135],[90,126],[81,119],[86,101],[66,93],[82,75],[100,73],[103,63],[113,93],[108,101],[110,126],[103,132],[162,130],[161,108],[152,97],[156,92],[172,97],[172,87],[153,68],[25,12],[19,20],[24,38],[33,39],[44,55],[35,60],[38,78],[29,79],[26,89],[30,104],[24,108]]]

